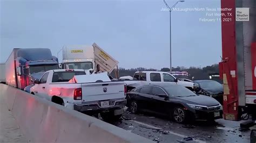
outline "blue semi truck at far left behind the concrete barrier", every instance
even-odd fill
[[[6,84],[24,89],[50,69],[58,69],[58,59],[48,48],[14,48],[5,62]]]

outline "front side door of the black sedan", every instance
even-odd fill
[[[166,101],[166,97],[160,97],[159,95],[166,96],[166,92],[160,87],[152,87],[152,97],[150,101],[150,105],[152,105],[152,110],[154,112],[165,114],[169,111],[168,102]]]

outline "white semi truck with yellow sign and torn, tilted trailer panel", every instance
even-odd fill
[[[93,69],[99,73],[111,73],[118,65],[118,61],[96,43],[89,46],[64,46],[62,54],[63,69]]]

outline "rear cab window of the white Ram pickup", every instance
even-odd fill
[[[52,76],[52,82],[68,82],[75,75],[85,75],[84,71],[60,71],[54,72]]]

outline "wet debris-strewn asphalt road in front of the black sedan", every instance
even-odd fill
[[[156,142],[250,142],[251,131],[240,131],[243,121],[224,119],[215,122],[195,121],[188,125],[174,123],[166,117],[126,112],[122,120],[111,123]],[[191,137],[193,140],[185,141]]]

